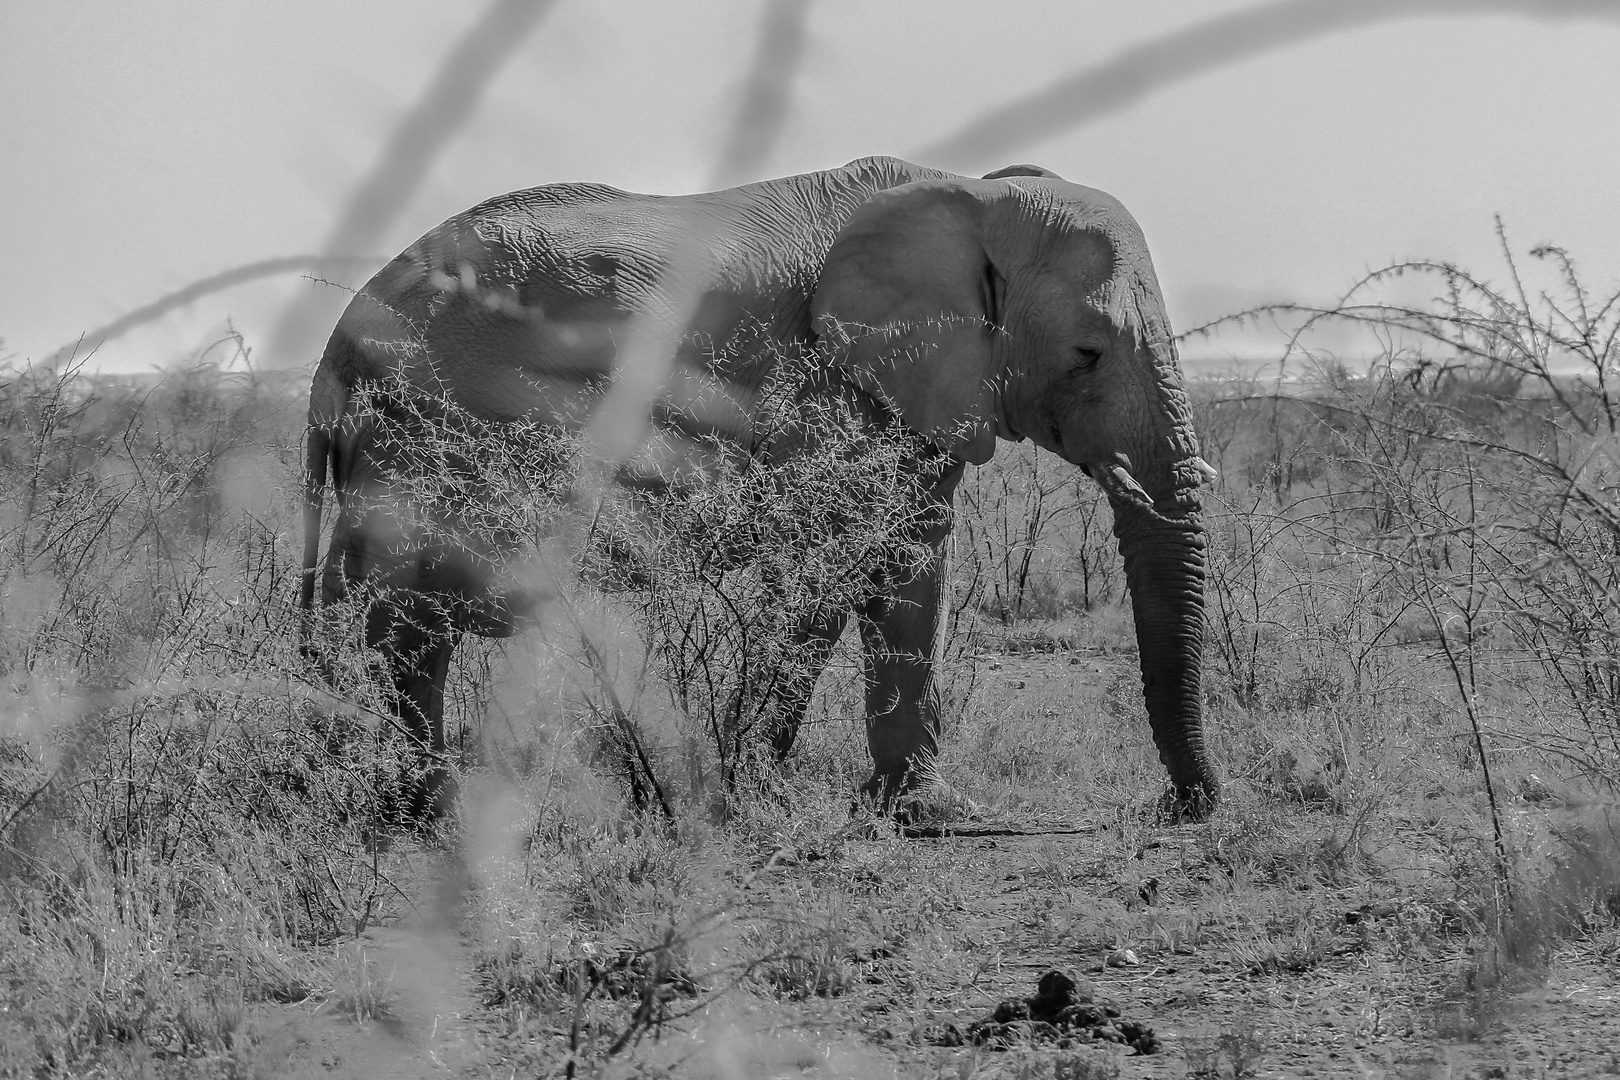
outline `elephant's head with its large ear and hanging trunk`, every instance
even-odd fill
[[[1102,484],[1158,755],[1178,810],[1202,816],[1218,789],[1200,699],[1209,466],[1147,243],[1111,196],[1009,172],[872,198],[828,254],[816,332],[857,384],[959,457],[1032,439]]]

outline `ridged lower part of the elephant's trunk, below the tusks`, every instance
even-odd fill
[[[1204,745],[1204,521],[1194,508],[1160,515],[1115,500],[1147,717],[1170,771],[1171,813],[1202,819],[1220,782]]]

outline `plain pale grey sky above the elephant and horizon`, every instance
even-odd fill
[[[758,176],[865,154],[917,160],[1000,104],[1243,6],[813,0]],[[0,0],[0,358],[40,359],[194,279],[321,251],[480,10]],[[514,188],[705,188],[761,11],[758,0],[556,0],[376,249],[355,254],[381,264]],[[1328,301],[1403,257],[1500,279],[1494,214],[1516,253],[1562,244],[1614,290],[1617,57],[1614,13],[1383,21],[1168,83],[1084,126],[1021,136],[996,160],[957,149],[922,164],[978,173],[1029,160],[1111,191],[1147,232],[1178,329],[1260,301]],[[342,303],[284,275],[165,316],[99,359],[180,361],[227,321],[258,347],[288,300],[313,291]]]

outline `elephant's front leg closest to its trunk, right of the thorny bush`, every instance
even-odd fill
[[[862,792],[880,803],[938,779],[933,758],[940,750],[940,690],[933,667],[944,614],[943,578],[941,541],[919,573],[860,609],[873,766]]]

